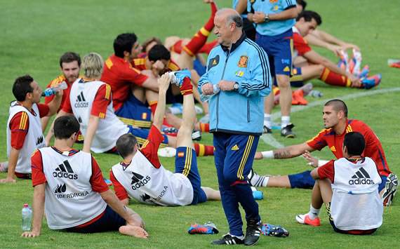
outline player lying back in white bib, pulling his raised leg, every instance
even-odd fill
[[[185,77],[178,77],[179,79],[173,76],[172,79],[173,83],[180,86],[183,95],[183,121],[177,136],[175,173],[166,170],[157,156],[163,140],[160,130],[166,108],[166,91],[171,81],[170,74],[164,74],[159,79],[159,103],[145,144],[139,149],[135,136],[131,134],[122,135],[116,141],[116,149],[124,161],[112,167],[110,179],[116,196],[123,203],[127,204],[129,197],[141,203],[161,206],[186,206],[207,200],[220,200],[219,191],[201,187],[192,142],[196,112],[193,88],[188,76],[186,74]]]

